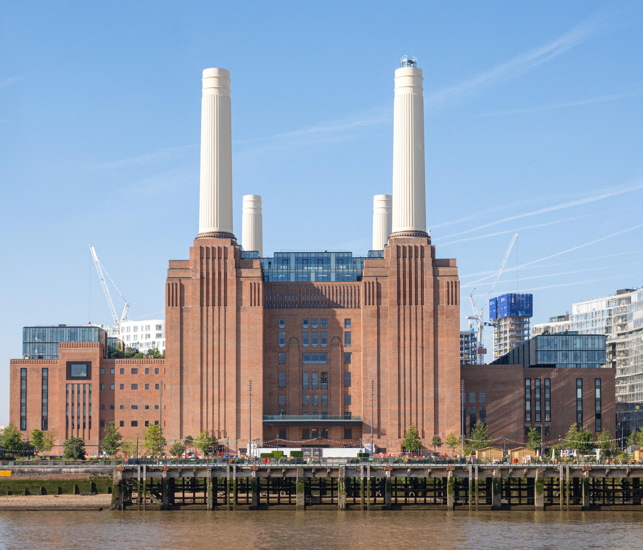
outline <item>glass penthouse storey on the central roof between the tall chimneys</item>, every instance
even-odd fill
[[[352,252],[275,252],[260,258],[255,251],[243,251],[242,258],[259,259],[266,282],[314,282],[361,280],[366,259],[382,259],[383,250],[370,250],[367,257]]]

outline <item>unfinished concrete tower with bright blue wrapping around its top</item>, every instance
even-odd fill
[[[531,294],[511,293],[489,299],[494,360],[529,339],[532,298]]]

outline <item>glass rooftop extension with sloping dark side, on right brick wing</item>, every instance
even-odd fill
[[[576,333],[534,336],[491,364],[598,369],[606,366],[606,336]]]

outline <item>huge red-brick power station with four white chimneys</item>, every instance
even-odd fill
[[[403,62],[395,71],[393,194],[374,197],[367,257],[264,257],[257,195],[244,196],[239,243],[232,223],[230,73],[205,69],[202,82],[199,232],[186,259],[169,262],[165,359],[110,358],[98,327],[35,329],[41,335],[35,338],[46,331],[59,336],[53,336],[55,358],[11,361],[10,419],[24,439],[35,428],[50,430],[59,444],[75,435],[91,454],[115,421],[126,439],[161,423],[167,439],[206,431],[232,452],[244,452],[249,440],[341,446],[371,434],[380,448],[399,450],[411,423],[424,442],[460,434],[463,377],[471,380],[464,381],[469,396],[488,387],[484,418],[483,407],[477,412],[482,392],[473,417],[466,405],[467,432],[467,419],[493,416],[505,432],[498,435],[524,439],[529,374],[523,371],[530,369],[480,365],[461,372],[456,261],[437,257],[426,228],[422,70]],[[60,336],[72,331],[73,337]],[[554,370],[539,374],[543,396],[549,383],[552,403],[575,407],[575,376],[561,378],[575,369]],[[608,370],[583,369],[587,421],[595,414],[592,372]],[[607,396],[613,372],[602,378],[603,406],[613,415],[613,393],[611,401]],[[552,436],[566,431],[567,421]]]

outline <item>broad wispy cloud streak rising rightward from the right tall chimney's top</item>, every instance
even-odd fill
[[[583,44],[594,35],[602,26],[602,17],[588,17],[569,32],[559,36],[556,40],[521,53],[509,61],[493,69],[481,73],[477,77],[464,80],[455,86],[446,87],[425,97],[426,104],[442,104],[448,100],[457,99],[464,95],[471,95],[480,89],[486,89],[498,82],[506,82],[516,77],[523,71],[537,67],[566,51]]]

